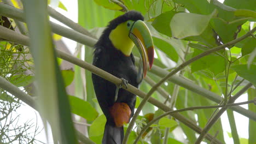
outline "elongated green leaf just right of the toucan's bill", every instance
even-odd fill
[[[167,43],[164,40],[161,40],[159,38],[153,37],[154,45],[158,47],[159,50],[164,52],[168,57],[172,59],[174,62],[178,62],[179,56],[174,47]]]

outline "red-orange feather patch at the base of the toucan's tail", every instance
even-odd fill
[[[127,104],[114,103],[114,105],[110,107],[109,111],[117,127],[122,127],[124,123],[129,123],[131,109]]]

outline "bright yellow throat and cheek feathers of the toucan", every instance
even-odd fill
[[[114,47],[124,53],[125,56],[130,56],[134,43],[129,38],[129,29],[126,22],[121,23],[109,34],[109,39]]]

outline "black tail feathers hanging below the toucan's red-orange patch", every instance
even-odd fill
[[[115,127],[108,124],[105,125],[102,144],[121,144],[124,139],[124,127]]]

